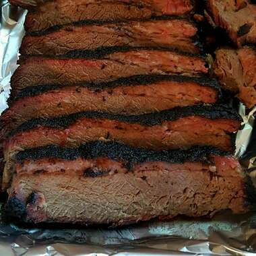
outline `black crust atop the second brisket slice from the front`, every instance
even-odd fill
[[[184,106],[144,115],[118,115],[96,111],[85,111],[82,113],[64,115],[53,119],[31,119],[29,121],[26,121],[19,127],[12,129],[7,137],[13,136],[16,133],[26,131],[28,129],[33,129],[38,126],[65,129],[65,127],[68,127],[72,123],[75,123],[77,119],[81,119],[84,117],[89,119],[118,120],[125,123],[139,123],[145,126],[154,126],[160,125],[164,121],[175,121],[177,119],[189,116],[201,116],[207,119],[236,119],[238,121],[242,121],[241,117],[236,113],[236,110],[234,110],[234,108],[230,108],[225,105]]]

